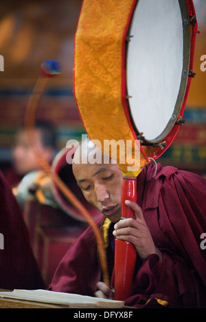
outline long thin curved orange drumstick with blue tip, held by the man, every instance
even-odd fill
[[[84,206],[82,206],[82,203],[80,203],[76,195],[74,195],[73,192],[68,188],[68,186],[66,186],[65,182],[62,182],[60,177],[56,173],[54,173],[52,167],[47,162],[47,160],[45,160],[41,156],[41,153],[39,152],[38,147],[36,146],[36,143],[34,140],[35,112],[38,105],[38,101],[41,99],[43,90],[47,85],[49,77],[54,77],[59,73],[60,73],[60,66],[58,64],[58,61],[56,60],[47,60],[43,62],[43,64],[41,65],[41,77],[38,78],[36,85],[34,86],[32,95],[30,96],[30,99],[27,103],[27,108],[25,112],[25,128],[27,129],[27,136],[29,139],[29,143],[34,151],[36,159],[38,160],[38,164],[41,165],[41,168],[45,171],[45,173],[50,175],[51,179],[55,182],[56,186],[59,188],[61,193],[65,195],[65,197],[71,202],[71,204],[79,212],[82,213],[82,216],[84,216],[85,219],[87,219],[87,222],[89,223],[89,225],[91,225],[91,228],[97,240],[98,254],[100,258],[100,267],[102,269],[103,280],[104,280],[104,283],[109,286],[110,282],[108,277],[106,252],[104,249],[104,241],[102,239],[102,235],[99,230],[99,227],[96,225],[95,221],[93,221],[93,218],[91,217],[87,209],[84,208]]]

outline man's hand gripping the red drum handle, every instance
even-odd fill
[[[122,219],[115,223],[113,235],[133,243],[141,260],[146,260],[152,253],[157,253],[161,260],[161,251],[155,247],[141,208],[133,201],[126,200],[125,203],[133,209],[135,218]]]

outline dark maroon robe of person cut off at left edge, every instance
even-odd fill
[[[45,288],[19,204],[1,172],[0,233],[0,288]]]

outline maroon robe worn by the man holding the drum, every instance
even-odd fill
[[[156,254],[144,262],[137,256],[133,294],[126,306],[159,307],[157,298],[168,301],[168,308],[206,308],[206,249],[200,247],[206,232],[206,180],[160,164],[155,175],[155,166],[148,164],[137,177],[137,203],[163,256],[161,262]],[[103,219],[98,217],[99,226]],[[111,246],[108,269],[113,286]],[[97,245],[89,227],[62,258],[49,289],[93,296],[100,279]]]

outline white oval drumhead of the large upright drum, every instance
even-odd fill
[[[139,0],[130,26],[127,90],[130,113],[146,140],[170,121],[183,71],[183,21],[178,0]]]

